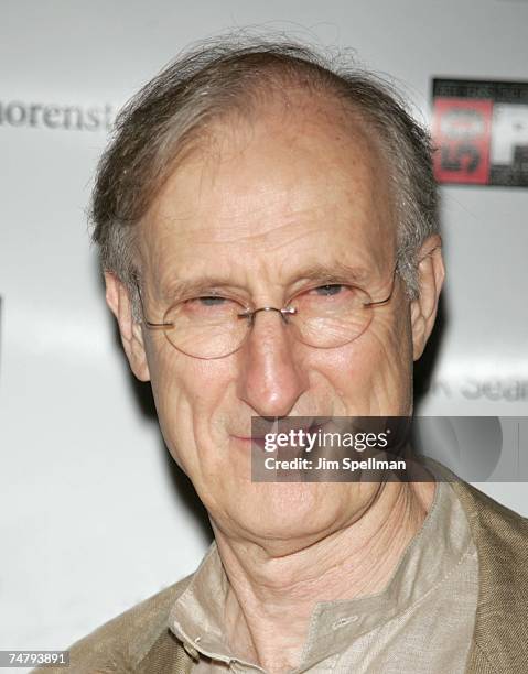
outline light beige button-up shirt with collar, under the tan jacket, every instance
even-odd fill
[[[170,629],[196,661],[193,674],[265,672],[226,642],[227,587],[213,543],[169,619]],[[468,522],[451,486],[438,482],[428,517],[386,589],[317,604],[301,664],[290,672],[462,673],[477,595],[478,561]]]

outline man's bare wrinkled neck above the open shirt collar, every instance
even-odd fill
[[[315,605],[381,591],[433,494],[433,483],[385,483],[351,524],[280,556],[213,522],[230,585],[226,629],[236,652],[269,672],[298,666]]]

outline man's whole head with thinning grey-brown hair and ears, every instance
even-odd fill
[[[301,47],[206,46],[121,113],[93,216],[131,368],[151,381],[165,442],[215,526],[315,540],[356,517],[373,486],[251,483],[250,422],[412,410],[443,267],[427,135],[401,105]],[[365,308],[366,329],[346,324],[351,340],[322,320],[338,346],[314,346],[317,316],[303,339],[259,312],[237,350],[212,350],[226,306],[302,298],[341,316],[358,294],[390,300]],[[147,324],[174,305],[170,329],[207,326],[182,349]]]

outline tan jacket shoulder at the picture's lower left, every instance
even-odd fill
[[[76,641],[69,651],[72,674],[131,673],[168,626],[172,605],[193,575],[148,597]],[[37,668],[31,674],[64,674],[64,668]]]

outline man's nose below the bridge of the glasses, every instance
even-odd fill
[[[239,351],[238,396],[260,416],[287,416],[309,387],[287,322],[278,311],[257,312]]]

